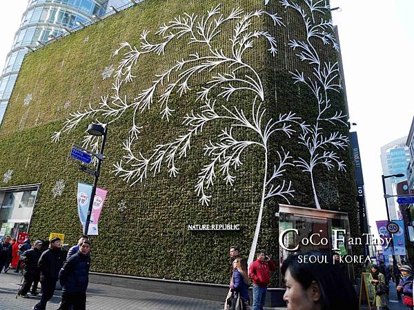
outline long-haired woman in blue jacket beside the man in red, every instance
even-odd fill
[[[238,304],[239,307],[236,308],[237,310],[246,310],[248,304],[250,304],[248,287],[248,271],[246,265],[242,262],[242,258],[238,257],[233,261],[233,276],[230,282],[230,291],[234,297],[233,301],[236,302],[238,298],[240,299]],[[227,300],[226,304],[228,304]]]

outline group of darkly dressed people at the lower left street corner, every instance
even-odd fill
[[[10,236],[5,236],[0,242],[0,273],[10,269],[14,246],[11,241]],[[30,245],[30,242],[23,242],[25,244]],[[23,269],[23,283],[17,297],[27,298],[29,291],[33,296],[38,295],[37,286],[41,283],[40,301],[33,307],[34,310],[46,309],[46,304],[55,293],[58,280],[62,287],[59,310],[86,309],[90,268],[88,236],[81,236],[77,245],[68,251],[62,249],[60,238],[36,240],[30,249],[20,248],[17,268],[19,267]],[[19,272],[18,269],[16,271]]]

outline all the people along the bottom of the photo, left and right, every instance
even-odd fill
[[[59,280],[62,287],[61,302],[58,310],[86,309],[86,289],[90,269],[90,241],[88,236],[80,236],[77,245],[62,249],[61,240],[52,238],[23,242],[25,247],[18,247],[19,262],[17,272],[23,269],[23,283],[17,297],[26,298],[30,293],[38,295],[38,283],[41,283],[40,301],[34,310],[45,310],[52,298]],[[13,256],[12,239],[6,236],[0,242],[0,273],[10,269]],[[16,248],[16,247],[15,247]],[[300,256],[324,256],[320,251],[295,253],[283,261],[280,266],[281,276],[286,291],[283,299],[288,310],[357,310],[357,293],[341,265],[315,262],[303,263]],[[231,278],[225,309],[263,310],[266,302],[268,285],[276,265],[266,251],[257,252],[256,260],[248,266],[245,258],[240,256],[239,247],[230,247]],[[397,269],[371,266],[371,284],[375,291],[374,306],[377,310],[386,310],[388,283],[397,284],[397,293],[402,298],[406,310],[413,310],[413,269],[409,265],[397,266]],[[253,287],[253,300],[249,297],[250,284]]]

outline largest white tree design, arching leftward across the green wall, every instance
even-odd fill
[[[235,8],[230,14],[225,15],[221,13],[220,6],[216,6],[208,10],[206,16],[184,14],[173,19],[170,23],[162,25],[155,33],[161,37],[161,43],[151,43],[148,39],[148,31],[141,34],[140,48],[127,42],[122,43],[114,53],[117,55],[121,50],[126,50],[124,58],[115,71],[112,96],[102,97],[97,106],[89,105],[87,110],[72,113],[71,118],[68,118],[64,123],[62,130],[56,132],[52,137],[53,142],[59,141],[62,132],[70,132],[84,118],[95,118],[97,123],[104,125],[117,121],[126,110],[132,109],[134,116],[130,136],[124,142],[126,155],[115,164],[114,172],[134,185],[137,182],[143,182],[148,174],[155,176],[164,166],[168,169],[170,176],[177,176],[179,174],[177,160],[187,156],[192,139],[197,134],[201,134],[208,123],[218,120],[228,121],[228,127],[225,127],[217,137],[219,142],[210,141],[204,147],[204,155],[208,158],[209,163],[204,165],[199,173],[195,192],[197,192],[200,202],[208,205],[211,196],[207,194],[207,191],[214,185],[217,172],[221,174],[226,184],[233,186],[235,181],[233,171],[242,165],[243,152],[250,145],[256,145],[264,150],[265,174],[262,199],[253,244],[250,249],[250,261],[253,260],[255,254],[265,200],[280,196],[288,201],[288,197],[293,196],[291,182],[283,178],[286,167],[293,165],[292,157],[281,147],[277,150],[277,158],[273,161],[277,164],[270,165],[270,158],[268,158],[270,156],[269,138],[277,132],[291,136],[295,132],[292,127],[293,123],[304,126],[293,112],[280,114],[275,120],[266,117],[266,109],[262,108],[260,103],[264,101],[262,80],[256,70],[246,63],[245,55],[247,50],[253,48],[258,39],[265,39],[268,42],[268,52],[271,55],[277,54],[277,44],[274,37],[266,31],[251,30],[253,19],[262,16],[269,17],[275,26],[283,25],[277,14],[270,14],[264,10],[245,13],[243,10]],[[233,21],[235,21],[235,28],[231,37],[228,38],[231,46],[228,54],[222,48],[214,46],[214,39],[222,29],[228,27],[228,23]],[[126,96],[121,95],[121,86],[135,78],[132,69],[141,57],[150,53],[164,54],[168,43],[173,39],[185,36],[188,37],[188,44],[203,45],[207,54],[190,54],[186,59],[177,61],[166,72],[157,74],[157,79],[152,82],[152,85],[130,101]],[[179,96],[183,96],[191,90],[192,79],[195,76],[201,76],[201,74],[205,78],[206,86],[197,92],[197,101],[203,102],[203,105],[201,105],[199,112],[192,110],[184,118],[184,125],[188,127],[186,134],[181,134],[170,143],[157,145],[150,156],[146,156],[143,152],[136,154],[132,145],[143,129],[137,123],[137,118],[139,114],[151,108],[155,101],[155,94],[157,92],[161,94],[158,99],[161,118],[169,121],[174,112],[168,105],[170,95],[175,92]],[[216,101],[210,99],[213,90],[218,91],[215,96],[226,101],[230,101],[232,95],[240,90],[252,92],[255,99],[251,111],[246,113],[235,105],[233,107],[221,105],[217,108]],[[254,132],[257,141],[237,139],[235,135],[237,130]],[[92,147],[97,150],[97,145],[99,145],[97,138],[85,136],[84,147]]]

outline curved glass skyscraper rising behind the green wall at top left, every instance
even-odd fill
[[[108,0],[29,0],[19,30],[0,76],[0,124],[19,74],[24,55],[31,48],[105,14]]]

